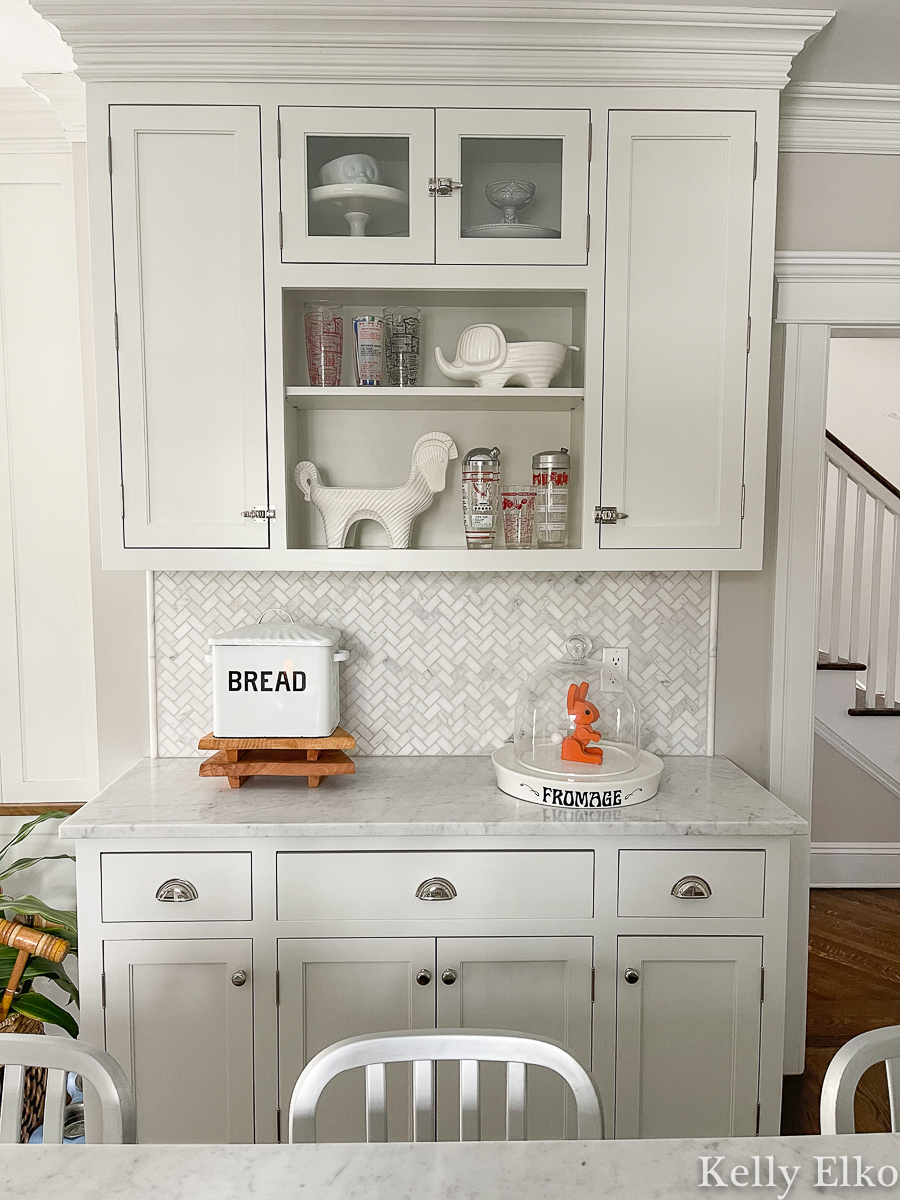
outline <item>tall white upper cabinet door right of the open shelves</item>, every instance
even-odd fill
[[[601,548],[740,546],[755,131],[610,113]]]

